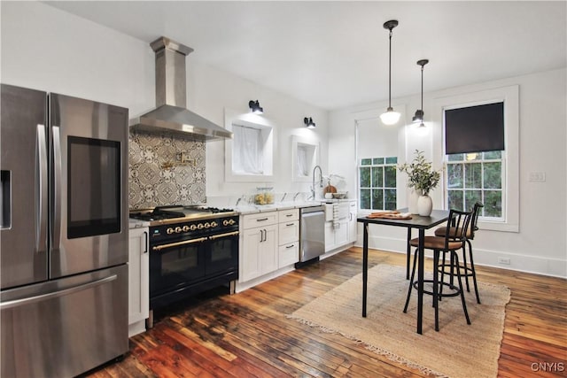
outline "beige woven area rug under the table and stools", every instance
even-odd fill
[[[417,368],[423,374],[495,377],[510,290],[483,282],[478,282],[478,290],[481,305],[473,291],[465,292],[470,326],[460,297],[443,298],[439,304],[439,332],[434,328],[431,296],[424,295],[423,334],[418,335],[416,290],[412,292],[408,312],[403,312],[408,293],[405,267],[382,264],[369,269],[366,318],[361,316],[362,274],[287,317],[363,343],[369,350]]]

